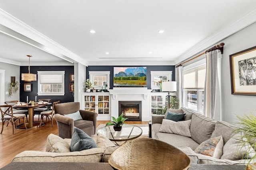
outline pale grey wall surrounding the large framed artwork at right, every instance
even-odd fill
[[[235,123],[236,115],[242,116],[254,111],[256,115],[256,96],[231,94],[229,55],[256,45],[256,23],[223,39],[224,53],[222,54],[222,107],[223,120]],[[256,91],[256,88],[255,88]]]

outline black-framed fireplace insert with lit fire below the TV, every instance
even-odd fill
[[[118,116],[122,113],[128,121],[141,121],[141,101],[118,101]]]

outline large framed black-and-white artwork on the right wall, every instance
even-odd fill
[[[256,96],[256,46],[229,57],[231,93]]]

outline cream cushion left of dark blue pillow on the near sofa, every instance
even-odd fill
[[[46,139],[46,152],[70,152],[70,145],[61,137],[51,133]]]

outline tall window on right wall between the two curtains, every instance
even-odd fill
[[[204,110],[205,72],[205,60],[183,68],[184,106],[201,113]]]

